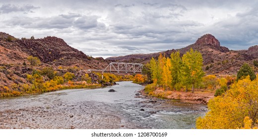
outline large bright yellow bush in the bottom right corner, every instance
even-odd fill
[[[224,96],[217,96],[208,103],[208,112],[196,120],[197,129],[237,129],[258,125],[258,79],[248,75],[231,85]],[[245,126],[246,127],[246,126]]]

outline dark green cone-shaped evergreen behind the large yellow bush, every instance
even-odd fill
[[[250,76],[251,80],[256,79],[256,74],[254,70],[248,64],[245,63],[237,72],[237,80],[245,78],[247,75]]]

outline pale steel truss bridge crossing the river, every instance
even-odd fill
[[[88,70],[103,73],[139,73],[142,74],[142,64],[139,63],[110,63],[104,70]]]

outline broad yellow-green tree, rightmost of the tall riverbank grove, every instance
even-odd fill
[[[200,52],[194,51],[192,48],[182,57],[183,67],[181,71],[182,84],[187,87],[192,85],[194,93],[194,85],[201,81],[204,72],[202,70],[202,56]]]

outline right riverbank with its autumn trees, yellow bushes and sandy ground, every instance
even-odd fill
[[[207,103],[208,112],[196,121],[197,129],[237,129],[258,126],[258,79],[254,70],[244,64],[234,75],[205,75],[202,56],[191,49],[146,65],[148,81],[144,92],[150,96]],[[191,92],[188,92],[191,88]],[[185,91],[185,92],[183,92]]]

